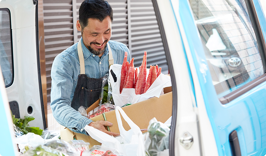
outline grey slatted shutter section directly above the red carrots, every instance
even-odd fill
[[[147,68],[158,64],[162,73],[168,74],[161,34],[151,0],[130,0],[130,14],[130,51],[135,67],[141,65],[144,51],[147,51]]]

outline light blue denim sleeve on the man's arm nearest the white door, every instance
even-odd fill
[[[54,119],[70,130],[87,134],[83,129],[92,120],[71,107],[74,69],[65,57],[57,56],[51,69],[51,110]]]

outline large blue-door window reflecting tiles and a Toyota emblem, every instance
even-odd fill
[[[244,0],[189,0],[218,98],[264,74]]]

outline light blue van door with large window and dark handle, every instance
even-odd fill
[[[203,97],[195,87],[197,105],[205,105],[218,155],[265,155],[265,19],[258,19],[258,1],[188,0],[179,9]]]

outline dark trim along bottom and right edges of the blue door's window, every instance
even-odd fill
[[[264,74],[262,76],[259,76],[258,78],[248,82],[247,84],[243,85],[242,87],[230,92],[229,94],[219,98],[220,102],[224,105],[229,103],[230,101],[238,98],[239,96],[247,93],[249,90],[255,88],[256,86],[260,85],[261,83],[266,81],[266,43],[263,36],[262,28],[259,23],[258,14],[256,12],[256,8],[254,5],[254,2],[252,0],[244,0],[248,15],[253,27],[253,30],[255,32],[255,36],[257,38],[258,43],[258,51],[261,56],[261,61],[263,65]]]

